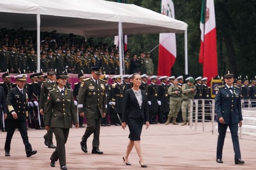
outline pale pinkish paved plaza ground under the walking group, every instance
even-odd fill
[[[195,124],[195,123],[194,123]],[[242,135],[240,149],[244,165],[234,164],[234,151],[230,133],[227,132],[223,150],[224,163],[216,163],[216,141],[218,131],[214,123],[198,123],[190,129],[189,126],[150,125],[149,129],[142,130],[141,147],[147,169],[256,169],[256,136]],[[85,124],[86,126],[86,124]],[[129,141],[128,128],[122,130],[121,126],[101,127],[100,150],[104,154],[91,154],[92,137],[87,141],[88,153],[80,148],[81,136],[85,128],[71,128],[66,143],[66,158],[68,169],[141,169],[135,148],[130,154],[131,166],[122,162],[126,145]],[[37,154],[27,158],[24,145],[18,130],[14,133],[11,143],[11,157],[4,156],[4,142],[6,132],[0,132],[0,169],[60,169],[50,167],[50,156],[53,149],[47,148],[43,143],[46,130],[28,129],[29,142]],[[56,141],[54,139],[54,144]]]

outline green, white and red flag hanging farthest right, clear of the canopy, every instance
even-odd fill
[[[214,0],[202,1],[200,29],[199,63],[203,64],[203,76],[211,80],[218,75]]]

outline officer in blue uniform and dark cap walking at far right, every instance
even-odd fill
[[[235,152],[235,164],[244,164],[241,159],[239,141],[238,141],[238,125],[242,126],[242,111],[240,89],[233,85],[233,71],[225,71],[225,85],[219,86],[219,91],[216,92],[215,109],[218,116],[218,144],[216,162],[223,163],[222,151],[227,128],[229,127]]]

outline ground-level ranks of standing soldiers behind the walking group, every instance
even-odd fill
[[[53,69],[48,69],[47,73],[55,73]],[[68,74],[68,73],[67,73]],[[48,75],[49,76],[49,75]],[[43,114],[40,114],[42,109],[41,105],[44,105],[43,102],[40,102],[40,93],[42,92],[42,84],[45,84],[49,81],[48,76],[44,76],[42,73],[35,73],[30,76],[32,83],[26,83],[25,89],[28,90],[28,106],[29,106],[29,115],[28,115],[28,124],[31,128],[41,129],[43,128]],[[79,81],[74,84],[73,88],[73,97],[75,99],[75,104],[77,105],[77,96],[80,83],[85,79],[85,75],[80,73],[77,75]],[[109,75],[102,76],[102,79],[106,81],[106,95],[108,102],[107,107],[107,116],[105,119],[102,119],[102,126],[111,126],[111,125],[120,125],[120,118],[122,116],[123,108],[123,99],[124,92],[127,89],[131,88],[130,78],[131,75],[115,75],[112,76],[112,84],[109,84]],[[11,83],[11,76],[8,73],[2,75],[3,82],[0,85],[4,89],[4,95],[7,97],[8,90],[15,86]],[[158,80],[157,80],[158,79]],[[169,124],[170,121],[174,125],[178,125],[177,122],[183,122],[182,125],[186,125],[186,122],[189,120],[188,117],[188,100],[189,99],[206,99],[205,105],[210,104],[211,97],[210,87],[207,86],[208,79],[201,78],[199,76],[196,79],[188,77],[185,79],[187,81],[184,83],[183,76],[147,76],[146,74],[141,75],[141,86],[140,89],[146,91],[147,100],[149,104],[150,111],[150,123],[166,123]],[[159,83],[160,82],[160,83]],[[158,84],[157,84],[158,83]],[[243,83],[243,84],[242,84]],[[244,107],[249,107],[249,102],[247,99],[252,100],[250,106],[256,107],[256,80],[252,79],[249,85],[249,80],[237,79],[236,86],[240,87],[241,97],[244,100]],[[72,89],[71,84],[67,83],[66,88]],[[45,92],[43,92],[44,94]],[[44,102],[47,102],[47,99],[42,99]],[[201,101],[199,100],[199,106]],[[201,107],[199,107],[199,115],[201,112]],[[208,108],[209,109],[209,108]],[[206,109],[207,110],[207,109]],[[209,110],[208,110],[209,111]],[[208,112],[205,111],[205,112]],[[199,120],[202,117],[199,116]],[[206,116],[205,119],[210,120],[210,116]],[[83,117],[79,116],[79,125],[83,126]],[[7,122],[5,122],[7,123]],[[2,128],[4,130],[4,128]]]

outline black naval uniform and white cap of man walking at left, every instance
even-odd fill
[[[14,76],[14,78],[18,81],[26,81],[26,74],[19,74]],[[36,154],[37,151],[32,151],[31,144],[28,141],[28,133],[27,133],[27,111],[28,111],[28,94],[27,90],[24,88],[19,89],[19,87],[14,87],[9,90],[7,95],[7,119],[8,119],[8,130],[6,135],[6,143],[4,145],[4,150],[6,151],[5,156],[10,156],[9,151],[11,149],[11,141],[14,131],[18,126],[19,133],[21,133],[21,137],[26,149],[27,157],[32,156],[32,154]],[[17,115],[17,117],[14,116]]]

